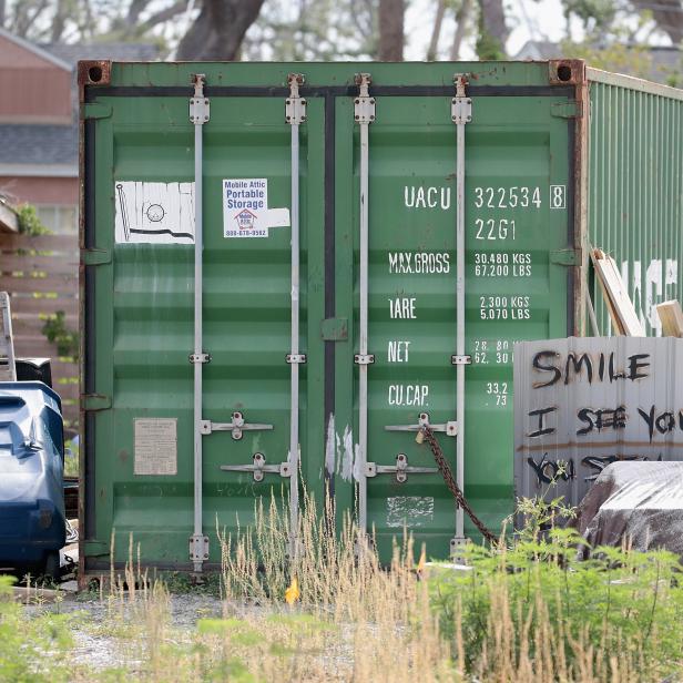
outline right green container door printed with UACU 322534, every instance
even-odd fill
[[[416,436],[427,420],[456,473],[456,125],[450,96],[383,90],[390,88],[378,89],[368,126],[367,351],[374,358],[360,358],[367,365],[358,357],[355,365],[351,357],[337,359],[338,406],[349,397],[337,410],[337,429],[348,425],[358,435],[367,419],[367,465],[365,471],[358,466],[356,447],[356,490],[339,478],[336,490],[339,500],[356,506],[363,522],[358,492],[367,487],[367,530],[385,559],[404,529],[418,544],[426,542],[430,554],[446,557],[456,536],[456,506],[429,447]],[[465,126],[466,354],[471,357],[465,493],[495,533],[513,501],[512,343],[564,336],[569,329],[573,122],[553,118],[552,105],[561,98],[510,96],[510,90],[504,98],[495,96],[495,89],[477,96],[472,88],[472,120]],[[337,193],[353,197],[337,208],[337,223],[348,225],[337,251],[338,266],[353,267],[353,289],[339,305],[353,319],[358,354],[366,256],[356,106],[354,100],[337,103],[338,139],[353,140],[337,146],[337,173],[345,176]],[[359,399],[363,373],[367,407]],[[476,537],[470,520],[465,522],[466,536]]]

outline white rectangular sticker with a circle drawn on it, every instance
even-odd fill
[[[116,244],[194,244],[194,183],[114,183]]]

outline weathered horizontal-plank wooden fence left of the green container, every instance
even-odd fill
[[[79,329],[79,252],[75,235],[0,234],[0,292],[12,296],[14,354],[52,359],[52,386],[62,398],[64,426],[78,430],[78,358],[60,356],[43,327],[58,312]]]

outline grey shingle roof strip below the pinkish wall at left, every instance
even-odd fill
[[[0,125],[0,163],[75,165],[78,135],[75,125]]]

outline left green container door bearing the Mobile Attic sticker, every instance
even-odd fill
[[[292,208],[286,93],[211,94],[211,85],[201,286],[202,350],[210,356],[202,393],[203,532],[213,540],[204,568],[221,560],[216,529],[234,536],[253,522],[261,500],[266,509],[272,496],[286,500],[292,480],[292,228],[254,218],[262,201]],[[116,562],[128,558],[132,534],[144,562],[192,568],[194,126],[191,89],[187,96],[174,90],[132,99],[103,94],[86,110],[86,118],[108,115],[86,122],[92,165],[84,258],[111,254],[91,259],[86,271],[89,363],[96,348],[85,404],[95,437],[86,461],[89,570],[109,567],[112,529]],[[298,137],[298,350],[306,358],[297,394],[299,481],[318,499],[319,459],[316,468],[308,453],[312,444],[320,452],[325,418],[308,391],[322,384],[323,353],[319,323],[308,322],[323,317],[323,235],[315,230],[323,222],[323,104],[312,100]],[[110,452],[116,457],[103,456]]]

